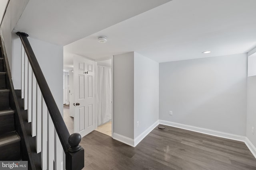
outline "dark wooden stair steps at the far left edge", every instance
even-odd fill
[[[20,160],[20,136],[15,131],[14,110],[10,108],[5,68],[4,59],[0,58],[0,160]]]

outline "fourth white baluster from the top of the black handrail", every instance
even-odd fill
[[[32,124],[31,135],[36,136],[36,77],[32,72]]]

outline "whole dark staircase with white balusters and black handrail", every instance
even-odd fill
[[[0,160],[27,160],[29,170],[81,170],[81,135],[68,132],[28,35],[16,34],[22,42],[21,90],[14,90],[0,30]]]

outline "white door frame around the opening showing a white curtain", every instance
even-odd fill
[[[96,102],[96,96],[98,96],[98,61],[104,61],[104,60],[109,60],[111,59],[111,77],[112,77],[112,92],[111,92],[111,95],[112,95],[112,113],[111,113],[111,116],[112,116],[112,129],[111,129],[111,137],[113,138],[113,134],[114,134],[114,69],[113,69],[113,65],[114,65],[114,56],[111,56],[111,57],[107,57],[107,58],[104,58],[104,59],[100,59],[100,60],[95,60],[95,129],[98,128],[98,108],[96,107],[97,106],[97,102]],[[97,69],[96,69],[97,68]]]

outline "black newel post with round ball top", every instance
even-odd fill
[[[79,145],[81,135],[73,133],[68,138],[70,148],[66,153],[66,170],[81,170],[84,168],[84,149]]]

